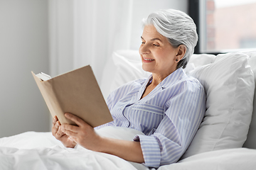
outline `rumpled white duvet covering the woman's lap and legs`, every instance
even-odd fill
[[[128,128],[102,128],[100,135],[123,137],[132,140],[140,133]],[[51,135],[51,132],[24,132],[0,139],[0,169],[148,169],[142,164],[127,162],[124,159],[92,152],[78,146],[65,148]]]

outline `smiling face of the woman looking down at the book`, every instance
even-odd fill
[[[158,33],[154,26],[144,27],[142,45],[139,47],[142,69],[151,72],[153,76],[156,74],[165,78],[176,70],[177,52],[178,47],[172,47],[167,38]]]

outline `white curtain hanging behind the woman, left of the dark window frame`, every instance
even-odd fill
[[[141,20],[187,0],[49,0],[50,75],[90,64],[97,81],[114,50],[138,50]]]

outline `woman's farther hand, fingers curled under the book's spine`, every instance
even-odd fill
[[[57,139],[60,140],[60,142],[63,143],[65,147],[75,147],[76,142],[72,139],[72,137],[68,136],[61,130],[60,121],[58,120],[57,116],[53,118],[53,128],[52,128],[52,134]]]

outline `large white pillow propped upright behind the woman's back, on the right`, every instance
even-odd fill
[[[242,147],[252,117],[255,81],[242,53],[218,55],[188,74],[206,90],[206,116],[182,159],[218,149]]]

